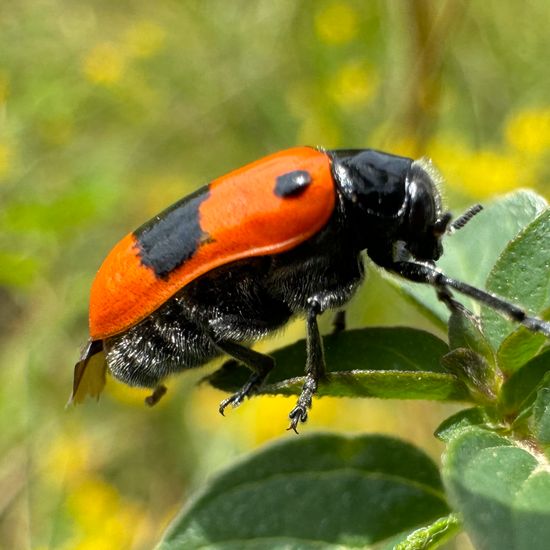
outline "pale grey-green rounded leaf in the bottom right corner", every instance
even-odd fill
[[[548,548],[550,470],[544,455],[475,427],[451,440],[443,479],[476,549]]]

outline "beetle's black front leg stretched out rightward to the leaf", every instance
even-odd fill
[[[485,304],[491,309],[498,311],[512,321],[521,323],[529,330],[540,332],[550,338],[549,322],[543,321],[542,319],[537,319],[536,317],[530,317],[522,308],[503,300],[495,294],[485,292],[480,288],[463,283],[462,281],[451,279],[430,264],[419,262],[395,262],[391,264],[388,269],[394,271],[409,281],[427,283],[434,286],[436,289],[447,289],[446,294],[442,294],[445,298],[450,294],[448,289],[452,288],[457,292],[460,292],[465,296],[469,296],[477,302]],[[452,298],[450,299],[453,300]]]

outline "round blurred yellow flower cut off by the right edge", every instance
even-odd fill
[[[526,109],[509,118],[504,128],[508,145],[520,153],[550,152],[550,109]]]

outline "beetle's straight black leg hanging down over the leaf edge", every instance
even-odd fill
[[[306,334],[306,380],[302,386],[302,392],[296,406],[290,411],[290,426],[289,430],[296,429],[299,422],[307,420],[307,411],[311,408],[313,395],[317,391],[319,380],[326,375],[325,358],[323,354],[323,341],[319,334],[319,326],[317,324],[317,315],[322,313],[321,302],[316,297],[310,298],[309,310],[307,312],[307,334]]]

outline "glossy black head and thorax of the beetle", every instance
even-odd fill
[[[331,153],[340,192],[366,224],[360,238],[371,258],[391,255],[392,245],[403,259],[441,256],[451,216],[442,211],[439,176],[429,162],[373,149]]]

